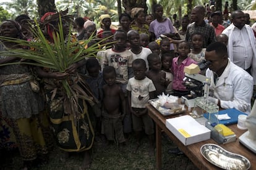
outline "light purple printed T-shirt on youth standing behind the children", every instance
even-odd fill
[[[150,23],[149,31],[154,33],[156,39],[160,37],[161,34],[174,33],[173,23],[169,18],[166,18],[164,22],[158,22],[156,19]],[[171,43],[170,50],[174,50],[173,43]]]

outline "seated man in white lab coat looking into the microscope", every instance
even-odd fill
[[[205,60],[211,62],[206,76],[211,78],[208,100],[221,108],[236,108],[250,113],[250,99],[254,81],[252,76],[228,59],[227,47],[213,42],[205,52]]]

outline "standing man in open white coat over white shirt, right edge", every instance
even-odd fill
[[[233,23],[223,31],[229,38],[228,55],[231,62],[243,68],[254,77],[256,84],[256,41],[254,31],[245,24],[245,15],[242,10],[236,10],[231,14]],[[254,61],[254,62],[253,62]],[[252,70],[251,70],[252,68]]]

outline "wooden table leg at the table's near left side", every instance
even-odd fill
[[[161,169],[161,165],[162,165],[161,128],[156,124],[156,169]]]

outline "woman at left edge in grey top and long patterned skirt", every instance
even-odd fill
[[[2,22],[0,32],[6,38],[24,38],[21,26],[14,20]],[[0,42],[0,51],[18,48],[22,49],[14,42]],[[0,65],[19,61],[20,58],[0,56]],[[32,73],[28,65],[0,67],[1,112],[11,122],[24,169],[37,166],[42,161],[40,158],[46,157],[48,153],[39,114],[43,106],[39,103],[38,94],[32,91],[31,79]]]

